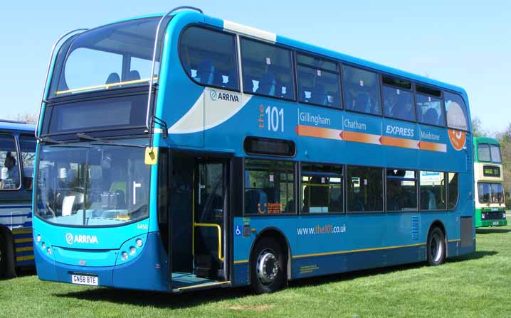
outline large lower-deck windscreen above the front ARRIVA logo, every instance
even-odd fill
[[[43,146],[36,215],[73,226],[120,225],[149,215],[144,151],[126,146]]]

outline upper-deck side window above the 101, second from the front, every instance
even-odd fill
[[[242,38],[241,67],[243,92],[295,99],[290,50]]]

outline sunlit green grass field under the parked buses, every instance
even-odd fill
[[[511,317],[511,226],[478,229],[477,251],[436,268],[413,264],[184,295],[0,281],[0,317]]]

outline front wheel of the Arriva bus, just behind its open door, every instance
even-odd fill
[[[284,287],[287,256],[273,238],[262,238],[251,254],[251,287],[256,294],[275,292]]]

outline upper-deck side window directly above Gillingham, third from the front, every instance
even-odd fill
[[[297,54],[296,59],[300,102],[340,108],[340,76],[337,63],[302,54]]]

